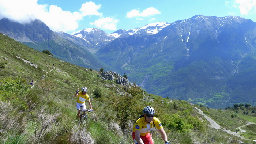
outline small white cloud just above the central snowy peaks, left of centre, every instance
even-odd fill
[[[107,30],[117,30],[116,24],[118,23],[118,21],[118,19],[106,17],[95,20],[95,22],[90,22],[90,24]]]

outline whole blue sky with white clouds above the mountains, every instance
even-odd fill
[[[112,33],[199,14],[256,22],[256,0],[0,0],[0,19],[20,23],[39,19],[50,29],[69,34],[91,27]]]

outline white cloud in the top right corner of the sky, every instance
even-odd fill
[[[247,15],[249,11],[256,12],[256,0],[235,0],[234,7],[238,7],[242,15]]]

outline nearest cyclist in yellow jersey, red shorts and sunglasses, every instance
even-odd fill
[[[135,144],[154,144],[149,133],[153,127],[157,127],[165,144],[169,144],[165,130],[158,118],[154,117],[154,113],[155,110],[153,107],[145,107],[143,114],[136,121],[136,124],[133,125],[132,139]]]

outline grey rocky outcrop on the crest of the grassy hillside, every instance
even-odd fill
[[[125,77],[120,76],[118,73],[112,72],[112,71],[102,72],[97,76],[102,77],[103,80],[116,80],[116,83],[122,84],[124,86],[134,85],[130,83],[129,80],[126,79]]]

